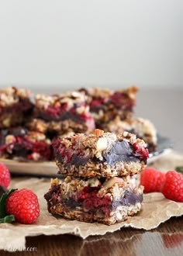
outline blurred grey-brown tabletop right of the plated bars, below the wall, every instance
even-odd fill
[[[183,90],[142,89],[137,97],[136,116],[150,119],[174,150],[183,153]]]

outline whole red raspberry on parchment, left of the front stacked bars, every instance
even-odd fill
[[[33,223],[40,215],[40,206],[36,194],[29,189],[12,192],[6,200],[6,213],[13,214],[19,223]]]

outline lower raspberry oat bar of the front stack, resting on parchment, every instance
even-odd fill
[[[71,220],[113,224],[139,212],[143,187],[136,186],[136,175],[123,178],[71,178],[51,182],[44,195],[48,211]]]

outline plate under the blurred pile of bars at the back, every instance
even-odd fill
[[[161,157],[163,154],[170,152],[172,147],[171,140],[167,137],[157,136],[157,151],[150,153],[147,164],[150,164]],[[57,177],[57,166],[54,161],[33,162],[33,161],[16,161],[0,158],[0,162],[4,163],[12,174],[33,175],[33,176],[49,176]]]

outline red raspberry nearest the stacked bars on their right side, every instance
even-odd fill
[[[161,192],[164,173],[154,168],[146,168],[140,175],[140,185],[144,186],[144,193]]]

